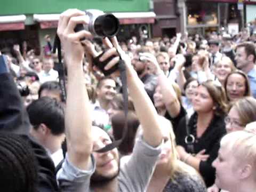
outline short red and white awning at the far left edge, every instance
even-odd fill
[[[25,15],[0,16],[0,31],[25,29]]]

